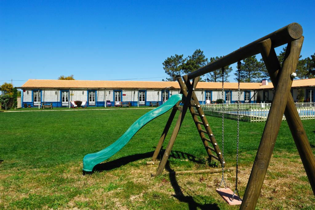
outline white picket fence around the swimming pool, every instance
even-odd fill
[[[240,104],[240,120],[246,122],[263,122],[267,120],[271,103]],[[315,119],[314,102],[295,103],[301,119]],[[203,112],[209,116],[237,119],[237,104],[201,105]],[[283,116],[283,120],[285,117]]]

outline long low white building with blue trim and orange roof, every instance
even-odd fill
[[[114,105],[115,101],[130,102],[132,106],[162,104],[172,94],[180,92],[178,82],[172,81],[85,81],[85,80],[28,80],[22,87],[22,107],[52,103],[53,107],[69,107],[70,101],[87,101],[88,106]],[[314,102],[315,79],[295,80],[291,94],[296,100],[298,89],[305,99]],[[241,103],[272,101],[272,83],[241,83]],[[238,100],[238,83],[225,82],[223,100]],[[195,93],[200,104],[222,99],[221,82],[198,82]],[[106,101],[108,103],[106,103]]]

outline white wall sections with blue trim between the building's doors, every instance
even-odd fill
[[[296,101],[298,89],[292,89],[293,90],[293,99]],[[303,91],[305,94],[307,94],[307,88],[303,88]],[[314,90],[314,89],[312,89]],[[27,91],[29,92],[27,94]],[[46,103],[53,103],[53,107],[60,107],[61,101],[60,101],[60,95],[61,95],[60,89],[51,89],[51,90],[40,90],[41,92],[41,102]],[[95,90],[96,91],[96,103],[95,106],[105,106],[105,100],[110,100],[111,104],[114,105],[114,91],[116,90],[106,90],[106,94],[104,97],[104,89],[103,90]],[[117,90],[120,91],[120,90]],[[145,91],[146,93],[146,106],[150,105],[150,102],[158,102],[160,105],[163,103],[162,99],[162,91],[164,90],[140,90]],[[171,97],[174,94],[178,94],[180,92],[179,89],[171,89],[167,90],[169,92],[169,97]],[[210,91],[212,93],[212,101],[216,101],[217,99],[222,99],[221,96],[221,90],[195,90],[195,94],[199,100],[200,104],[205,104],[205,95],[206,91]],[[225,90],[229,91],[229,90]],[[267,101],[272,101],[273,99],[273,93],[272,90],[265,90],[268,92],[268,99]],[[33,99],[32,99],[32,90],[26,89],[25,92],[22,91],[22,107],[24,107],[24,104],[34,106]],[[56,94],[57,92],[57,94]],[[260,91],[250,91],[250,102],[255,103],[257,99],[259,98],[260,101],[264,101],[264,90]],[[70,90],[69,92],[70,97],[69,101],[88,101],[88,90],[84,89],[77,89],[77,90]],[[225,100],[225,94],[224,93],[224,100]],[[315,96],[315,93],[313,93]],[[138,105],[138,90],[122,90],[122,101],[128,101],[131,103],[132,106]],[[305,99],[306,99],[305,95]],[[244,101],[244,90],[241,91],[241,103],[248,103],[248,101]],[[238,92],[232,91],[232,103],[235,103],[238,100]],[[312,100],[314,100],[312,98]],[[37,105],[36,105],[37,106]]]

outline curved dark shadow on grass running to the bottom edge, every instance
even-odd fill
[[[166,163],[165,165],[165,169],[169,172],[174,172],[173,169],[170,168],[169,166],[169,162]],[[174,189],[174,192],[175,192],[175,195],[174,197],[179,200],[180,202],[185,202],[188,204],[188,207],[190,210],[195,210],[197,208],[200,208],[200,209],[211,209],[211,210],[216,210],[216,209],[220,209],[218,207],[217,204],[215,203],[207,203],[207,204],[200,204],[198,202],[196,202],[193,198],[193,196],[187,196],[187,195],[184,195],[183,194],[183,191],[181,190],[177,180],[176,180],[176,175],[174,173],[169,173],[169,180],[170,180],[170,183]]]

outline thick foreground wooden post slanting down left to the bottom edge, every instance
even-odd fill
[[[276,92],[270,107],[254,165],[249,176],[243,202],[240,207],[242,210],[255,209],[258,197],[261,193],[261,187],[266,176],[267,168],[292,86],[292,79],[290,75],[292,72],[296,71],[302,43],[303,38],[292,41],[287,46],[282,69],[278,76],[278,84],[275,86]]]

